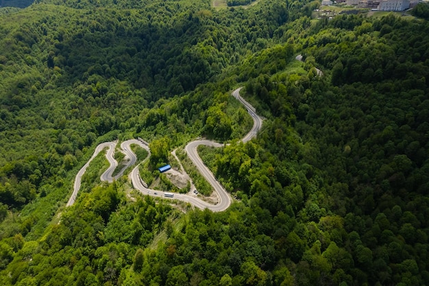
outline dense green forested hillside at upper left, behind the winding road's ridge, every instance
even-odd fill
[[[243,38],[242,24],[228,24],[230,18],[249,21],[243,10],[215,17],[204,3],[199,10],[187,1],[181,5],[152,4],[147,12],[38,4],[4,20],[0,131],[7,143],[1,144],[0,162],[5,176],[30,183],[24,194],[12,183],[5,202],[32,200],[40,179],[58,174],[62,156],[75,164],[83,147],[111,130],[140,132],[167,125],[174,120],[169,115],[182,118],[183,112],[188,123],[206,110],[199,99],[184,97],[171,114],[149,108],[162,105],[156,104],[160,97],[183,95],[207,82],[247,45],[260,49],[256,39],[269,37],[259,28]],[[193,102],[201,104],[191,108]],[[42,166],[45,161],[49,167]]]

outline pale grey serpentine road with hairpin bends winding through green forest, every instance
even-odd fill
[[[243,139],[241,139],[241,141],[247,142],[252,138],[254,138],[258,133],[258,131],[260,130],[262,126],[262,118],[260,118],[256,114],[255,108],[240,96],[240,90],[241,88],[237,88],[235,91],[232,92],[232,95],[236,99],[238,99],[238,101],[240,101],[241,104],[245,106],[245,108],[247,109],[247,112],[249,112],[249,114],[252,116],[254,120],[254,126],[252,127],[252,129],[246,134],[246,136],[243,137]],[[125,154],[125,158],[129,158],[130,160],[127,161],[127,164],[121,169],[119,174],[117,174],[114,177],[112,176],[112,174],[114,172],[114,169],[117,168],[118,163],[113,158],[113,152],[114,152],[114,147],[117,145],[117,142],[106,142],[98,145],[95,148],[95,152],[93,156],[90,158],[90,160],[88,160],[88,162],[84,165],[84,167],[82,167],[82,169],[80,169],[80,171],[77,173],[77,176],[75,178],[74,190],[69,199],[69,202],[67,203],[67,206],[71,206],[75,202],[77,192],[79,191],[79,188],[80,188],[80,181],[82,180],[82,176],[85,173],[86,168],[88,167],[90,161],[93,160],[93,158],[95,158],[95,156],[97,156],[99,152],[104,150],[106,147],[109,147],[106,157],[109,160],[110,167],[101,175],[100,179],[101,181],[112,182],[114,178],[116,179],[123,176],[123,172],[125,171],[125,169],[127,169],[127,167],[130,167],[131,165],[134,165],[136,163],[136,159],[137,159],[136,155],[134,154],[134,152],[131,151],[131,148],[130,148],[130,145],[132,144],[137,144],[140,147],[145,148],[145,150],[149,152],[149,155],[147,157],[149,158],[150,150],[147,144],[136,139],[124,141],[123,143],[121,143],[121,149],[122,149],[121,152]],[[206,167],[206,165],[204,165],[203,161],[199,157],[197,152],[197,147],[199,145],[206,145],[210,147],[223,147],[223,145],[221,143],[208,141],[208,140],[197,140],[197,141],[192,141],[191,143],[188,143],[188,145],[186,145],[185,147],[185,151],[188,154],[189,158],[191,158],[191,160],[193,161],[193,163],[195,164],[199,172],[202,174],[202,176],[204,176],[204,178],[206,178],[206,180],[212,185],[213,189],[215,189],[218,195],[219,201],[217,202],[217,204],[210,204],[208,202],[204,202],[203,200],[200,200],[195,195],[187,195],[182,193],[174,193],[174,197],[169,199],[188,202],[190,204],[193,204],[193,206],[196,206],[197,208],[201,208],[201,209],[208,208],[211,211],[225,211],[225,209],[227,209],[231,204],[231,197],[229,193],[225,191],[225,189],[223,189],[221,184],[219,184],[215,176],[213,176],[212,172],[208,169],[208,167]],[[132,181],[133,187],[135,189],[138,189],[138,191],[140,191],[141,193],[155,196],[155,197],[165,198],[164,191],[158,191],[158,190],[147,188],[147,184],[145,184],[145,182],[143,182],[143,180],[140,178],[140,174],[138,172],[138,165],[134,167],[134,169],[131,171],[130,179]]]

